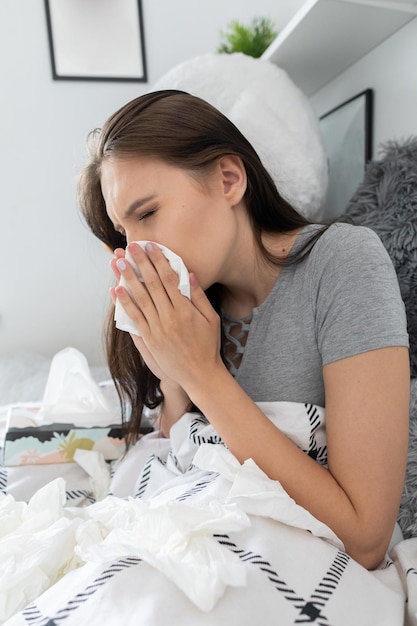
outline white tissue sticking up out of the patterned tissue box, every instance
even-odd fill
[[[75,348],[65,348],[52,359],[37,421],[90,428],[120,419],[93,379],[86,357]]]

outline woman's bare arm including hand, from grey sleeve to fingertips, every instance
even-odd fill
[[[117,297],[141,330],[165,375],[199,407],[243,462],[252,458],[289,495],[327,524],[348,554],[376,567],[388,546],[407,458],[409,360],[406,348],[382,348],[323,370],[328,469],[302,452],[261,412],[220,356],[220,321],[195,277],[191,302],[158,251],[137,251],[146,287]],[[155,269],[157,271],[155,271]],[[134,280],[133,270],[125,277]]]

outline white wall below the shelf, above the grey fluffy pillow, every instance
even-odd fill
[[[377,158],[381,143],[417,136],[417,18],[328,83],[311,103],[320,116],[368,87],[374,90]]]

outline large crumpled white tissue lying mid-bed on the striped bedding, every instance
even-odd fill
[[[137,556],[165,574],[200,610],[210,611],[226,586],[246,584],[239,557],[213,537],[250,526],[234,504],[198,507],[184,502],[150,502],[109,496],[88,507],[89,516],[109,531],[99,544],[77,548],[83,561],[108,563]]]

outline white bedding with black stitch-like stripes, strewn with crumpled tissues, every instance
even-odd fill
[[[322,408],[260,407],[326,462]],[[170,434],[112,463],[80,451],[64,474],[3,468],[0,623],[417,624],[417,539],[368,572],[201,415]]]

